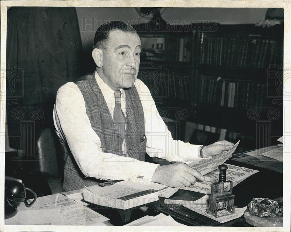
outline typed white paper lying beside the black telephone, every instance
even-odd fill
[[[94,225],[97,222],[109,220],[107,217],[102,216],[60,193],[38,197],[36,202],[29,208],[27,208],[24,203],[19,204],[17,208],[18,212],[26,211],[26,214],[22,215],[21,213],[17,213],[12,217],[10,223],[13,223],[14,225],[17,225],[16,222],[23,222],[26,224],[26,218],[30,217],[30,213],[33,215],[34,221],[50,225]],[[39,212],[35,212],[35,210]],[[47,214],[47,210],[59,211],[61,216],[58,216],[58,218],[55,218],[54,216],[48,217],[48,215],[51,214]]]

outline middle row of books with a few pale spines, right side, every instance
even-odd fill
[[[269,85],[252,80],[222,80],[200,75],[198,102],[235,109],[265,107],[269,104],[266,96]]]

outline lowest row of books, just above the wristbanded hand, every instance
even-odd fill
[[[206,138],[211,137],[210,139],[205,139],[206,143],[202,145],[209,145],[211,143],[214,143],[216,141],[222,141],[227,140],[232,143],[236,143],[240,140],[239,145],[235,151],[235,153],[240,153],[248,150],[255,149],[256,143],[255,138],[253,136],[249,136],[246,134],[238,133],[235,131],[223,129],[223,128],[217,128],[209,125],[203,125],[198,123],[193,123],[190,121],[186,122],[186,130],[185,130],[185,136],[184,136],[184,142],[190,142],[193,144],[197,144],[197,141],[194,136],[197,136],[197,131],[201,133],[205,133],[204,136],[198,135],[200,138]]]

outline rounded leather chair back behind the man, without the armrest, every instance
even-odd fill
[[[51,128],[42,130],[36,148],[39,170],[57,177],[63,183],[63,151],[56,132]]]

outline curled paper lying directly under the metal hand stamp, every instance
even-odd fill
[[[230,215],[227,215],[229,214],[228,211],[226,210],[221,210],[217,213],[218,216],[220,215],[226,215],[226,216],[223,216],[223,217],[214,217],[210,214],[208,214],[206,212],[206,208],[207,206],[201,206],[201,205],[194,205],[194,204],[183,204],[183,206],[185,206],[186,208],[189,208],[191,209],[192,211],[195,211],[196,213],[200,213],[206,217],[209,217],[217,222],[220,222],[220,223],[224,223],[224,222],[228,222],[230,220],[233,220],[233,219],[236,219],[240,216],[242,216],[244,214],[244,211],[246,210],[247,206],[246,207],[243,207],[243,208],[235,208],[235,213],[234,214],[230,214]]]

